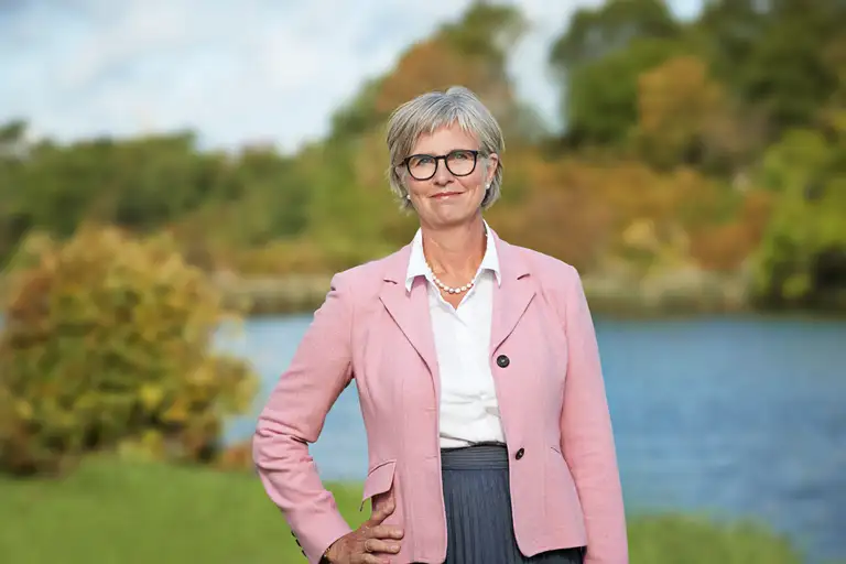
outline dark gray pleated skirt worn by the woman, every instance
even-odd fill
[[[582,547],[532,557],[518,549],[505,446],[444,448],[441,468],[446,505],[445,564],[582,564]]]

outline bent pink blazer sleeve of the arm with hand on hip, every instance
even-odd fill
[[[317,441],[326,414],[352,378],[351,326],[349,291],[336,274],[261,411],[252,440],[261,482],[312,564],[351,530],[321,482],[307,446]]]

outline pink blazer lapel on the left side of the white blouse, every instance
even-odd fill
[[[437,355],[432,335],[427,288],[425,281],[417,278],[411,286],[411,292],[405,291],[409,256],[410,249],[406,247],[389,260],[379,299],[411,346],[426,364],[440,397]]]

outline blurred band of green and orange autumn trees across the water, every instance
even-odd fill
[[[767,306],[843,295],[846,10],[764,4],[707,2],[691,21],[660,0],[577,10],[549,53],[563,130],[518,95],[528,22],[492,2],[410,45],[337,109],[325,139],[292,154],[200,152],[191,133],[29,143],[11,123],[0,128],[0,258],[13,265],[28,234],[64,239],[88,220],[169,232],[191,264],[247,278],[381,257],[416,228],[388,189],[386,119],[460,84],[506,133],[488,219],[512,242],[595,279],[718,273]]]

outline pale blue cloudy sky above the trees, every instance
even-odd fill
[[[469,0],[0,0],[0,123],[70,142],[191,129],[208,148],[319,139],[364,80]],[[557,123],[554,39],[600,0],[512,0],[518,95]],[[415,6],[411,9],[410,6]],[[697,0],[673,0],[682,18]]]

